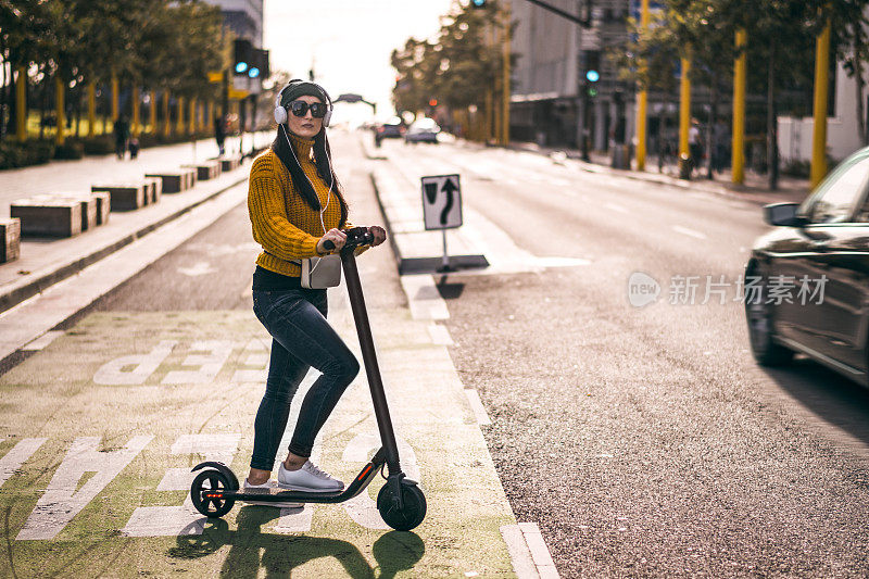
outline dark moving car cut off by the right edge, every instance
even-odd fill
[[[780,365],[801,352],[869,386],[869,148],[803,203],[764,214],[778,227],[755,242],[744,286],[755,360]]]

